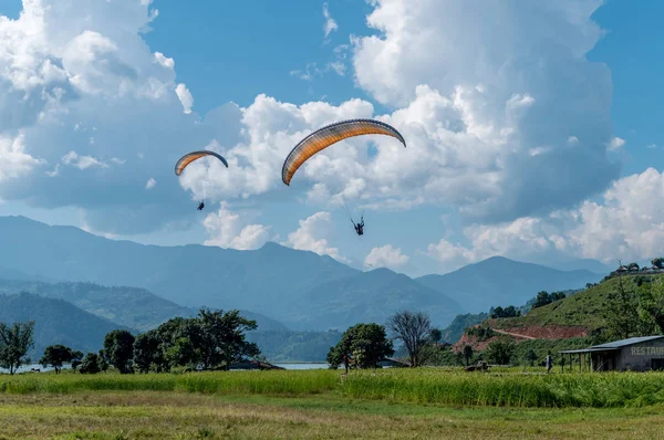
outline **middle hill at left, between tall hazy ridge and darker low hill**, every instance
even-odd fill
[[[85,312],[141,332],[157,327],[176,316],[188,317],[198,313],[196,308],[183,307],[145,289],[106,287],[94,283],[51,284],[0,279],[0,294],[19,292],[64,300]],[[241,311],[241,314],[249,319],[256,319],[261,331],[288,331],[283,324],[267,316],[247,311]]]

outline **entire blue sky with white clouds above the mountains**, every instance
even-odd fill
[[[0,158],[15,166],[0,174],[2,216],[165,245],[273,240],[414,275],[495,254],[642,260],[664,245],[661,2],[48,4],[20,20],[20,1],[0,4],[13,20],[0,21],[13,48],[0,55],[12,91]],[[18,45],[30,27],[34,41]],[[359,116],[385,116],[407,151],[339,144],[328,169],[347,175],[312,163],[280,184],[303,133]],[[172,175],[210,145],[232,170]],[[350,191],[364,237],[317,184]]]

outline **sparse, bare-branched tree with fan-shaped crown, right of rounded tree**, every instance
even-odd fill
[[[432,322],[426,313],[404,311],[387,318],[387,328],[395,341],[403,342],[411,366],[419,365],[419,355],[432,333]]]

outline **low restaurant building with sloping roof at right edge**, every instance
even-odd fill
[[[581,371],[664,370],[664,335],[631,337],[590,348],[568,349],[560,354],[569,355],[570,369],[572,358],[579,356]]]

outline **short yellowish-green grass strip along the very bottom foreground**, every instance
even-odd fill
[[[391,404],[336,394],[164,391],[0,395],[0,439],[657,438],[664,407],[509,409]]]

